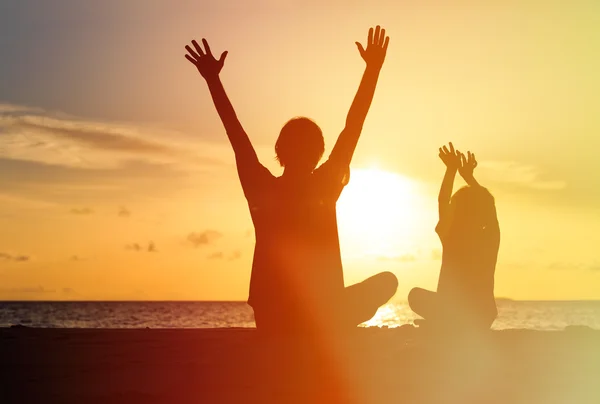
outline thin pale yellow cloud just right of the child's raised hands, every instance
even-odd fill
[[[484,161],[479,164],[479,170],[491,181],[540,191],[559,191],[567,187],[563,180],[542,178],[540,168],[515,161]]]

